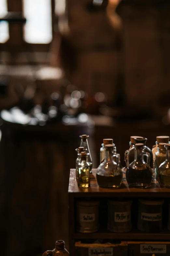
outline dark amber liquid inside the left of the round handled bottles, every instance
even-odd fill
[[[96,179],[100,187],[119,188],[122,180],[122,175],[119,174],[119,175],[107,177],[107,176],[96,174]]]

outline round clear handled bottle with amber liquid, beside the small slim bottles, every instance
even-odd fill
[[[97,183],[100,187],[119,188],[122,182],[120,155],[112,154],[112,144],[105,145],[105,147],[105,161],[99,165],[96,172]],[[117,162],[114,162],[113,157],[116,157]]]

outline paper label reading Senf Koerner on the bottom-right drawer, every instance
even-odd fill
[[[155,244],[149,244],[149,245],[140,245],[140,253],[166,253],[166,245],[155,245]]]

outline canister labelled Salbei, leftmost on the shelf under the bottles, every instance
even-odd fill
[[[99,201],[77,202],[77,231],[93,233],[99,229]]]

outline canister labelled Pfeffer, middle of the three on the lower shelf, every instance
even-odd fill
[[[108,199],[108,230],[116,233],[131,231],[132,201],[116,201]]]

